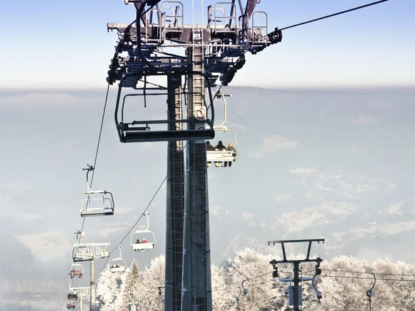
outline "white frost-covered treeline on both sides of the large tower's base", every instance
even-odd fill
[[[279,278],[293,277],[293,265],[279,264],[279,278],[272,277],[272,255],[246,248],[236,252],[223,267],[212,265],[212,304],[214,311],[285,311],[284,290],[290,285]],[[291,255],[290,258],[304,258]],[[275,258],[279,259],[279,258]],[[311,281],[302,282],[302,309],[308,311],[369,310],[367,290],[374,284],[372,310],[415,311],[415,265],[379,259],[371,265],[355,257],[340,256],[323,261],[322,274],[315,285],[323,298],[318,303]],[[313,276],[315,263],[302,263],[300,276]],[[243,294],[241,283],[248,290]],[[100,275],[97,293],[103,297],[101,311],[129,311],[134,300],[140,311],[163,310],[165,256],[159,256],[140,273],[135,261],[121,275],[107,267]],[[239,305],[236,296],[239,294]]]

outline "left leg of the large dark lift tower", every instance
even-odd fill
[[[168,120],[182,120],[181,75],[167,75]],[[170,131],[180,131],[183,123],[169,124]],[[166,204],[165,310],[181,310],[183,270],[183,213],[185,169],[183,141],[168,142]]]

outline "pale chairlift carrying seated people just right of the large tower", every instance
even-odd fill
[[[216,94],[216,98],[221,98],[223,100],[225,111],[223,115],[223,122],[217,126],[213,126],[213,128],[215,131],[223,131],[223,132],[230,131],[231,133],[233,133],[236,148],[233,147],[232,143],[229,143],[228,148],[224,150],[219,150],[219,149],[207,150],[206,160],[208,162],[208,167],[210,167],[212,162],[214,162],[215,167],[231,167],[232,162],[235,162],[237,160],[237,155],[239,153],[237,134],[231,129],[228,129],[228,127],[224,125],[226,122],[226,115],[227,115],[227,103],[226,103],[225,97],[232,97],[232,95],[225,95],[221,91],[219,91]]]

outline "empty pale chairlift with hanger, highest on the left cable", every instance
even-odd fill
[[[106,190],[93,191],[89,187],[88,174],[93,167],[88,165],[86,171],[86,187],[88,191],[81,195],[80,211],[81,216],[110,216],[114,214],[114,200],[111,192]],[[99,207],[98,207],[99,206]]]

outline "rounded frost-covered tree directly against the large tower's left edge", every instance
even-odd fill
[[[140,311],[163,310],[164,290],[160,296],[158,288],[165,283],[165,256],[151,259],[149,266],[142,271],[141,283],[138,288]]]

